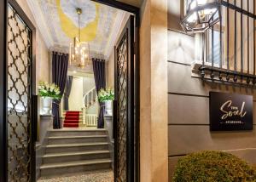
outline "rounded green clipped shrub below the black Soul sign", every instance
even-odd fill
[[[229,153],[201,151],[184,156],[177,162],[173,181],[256,181],[256,171],[247,162]]]

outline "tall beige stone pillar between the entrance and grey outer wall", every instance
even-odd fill
[[[145,0],[140,27],[141,181],[167,181],[167,0]]]

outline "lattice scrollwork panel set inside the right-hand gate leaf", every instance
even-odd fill
[[[127,64],[128,35],[121,38],[117,47],[117,181],[125,182],[127,174]]]

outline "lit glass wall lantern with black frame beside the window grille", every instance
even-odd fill
[[[181,25],[187,33],[207,31],[220,18],[219,0],[184,0],[185,17]]]

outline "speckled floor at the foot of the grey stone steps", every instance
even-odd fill
[[[90,173],[76,173],[55,178],[40,178],[38,182],[113,182],[113,171],[96,171]]]

